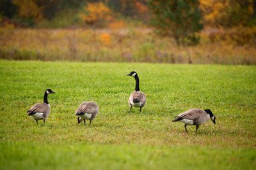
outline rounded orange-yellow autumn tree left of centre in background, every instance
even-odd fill
[[[79,16],[86,24],[113,20],[113,12],[102,2],[88,3],[88,6],[86,6],[84,10],[86,10],[87,13],[81,13]]]

